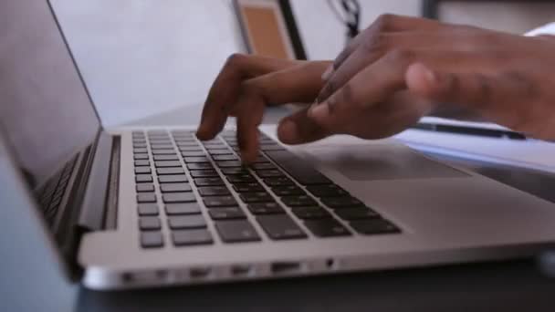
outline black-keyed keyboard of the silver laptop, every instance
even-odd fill
[[[208,141],[188,130],[133,131],[132,143],[144,248],[168,244],[163,228],[174,246],[214,244],[215,237],[225,244],[262,241],[254,224],[276,241],[401,232],[262,133],[248,168],[234,130]]]

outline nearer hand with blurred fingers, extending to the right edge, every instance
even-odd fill
[[[327,133],[379,139],[452,103],[555,139],[555,40],[382,16],[322,76],[309,117]]]

